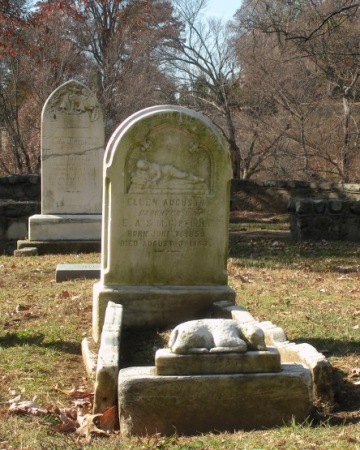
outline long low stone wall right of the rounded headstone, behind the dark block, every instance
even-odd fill
[[[293,197],[360,201],[360,184],[233,180],[231,209],[286,214]]]

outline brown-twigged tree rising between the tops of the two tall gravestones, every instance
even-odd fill
[[[104,108],[107,136],[129,114],[153,104],[168,83],[156,49],[177,36],[167,0],[67,0],[72,34],[87,56],[90,85]],[[167,89],[163,89],[166,92]]]

